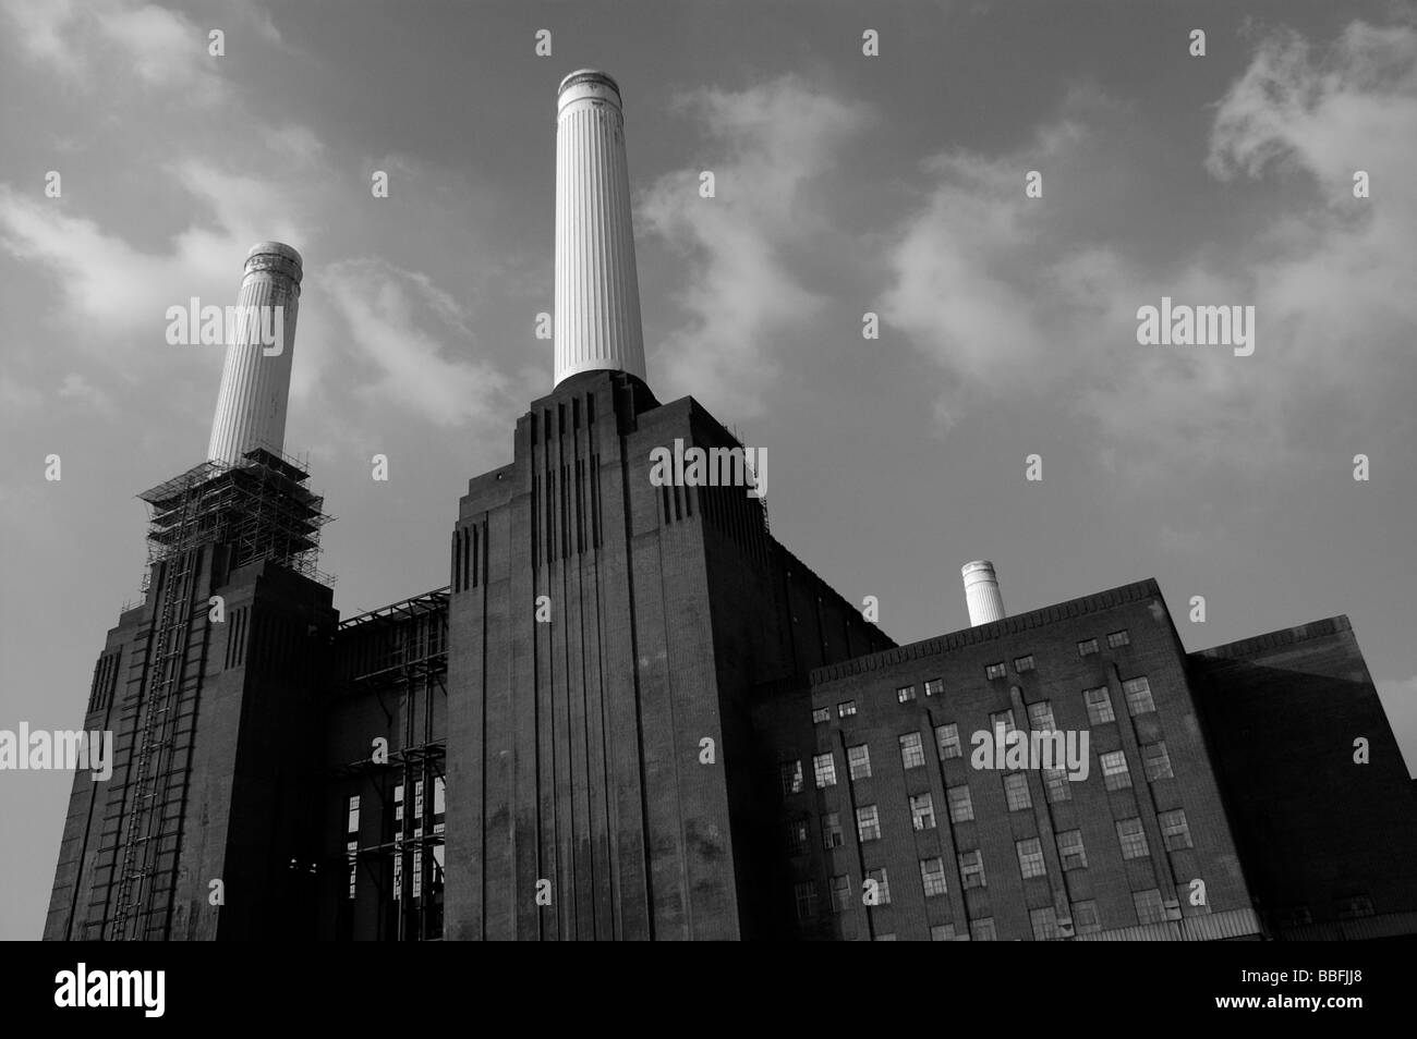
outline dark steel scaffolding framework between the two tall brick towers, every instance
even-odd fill
[[[448,595],[435,589],[343,621],[336,637],[337,696],[371,696],[398,746],[387,760],[337,764],[330,780],[373,788],[383,811],[374,844],[351,842],[346,866],[371,878],[380,900],[380,937],[442,937],[444,822],[436,793],[446,777],[446,736],[434,722],[448,698]],[[394,706],[390,705],[393,701]],[[387,871],[385,871],[387,866]],[[391,880],[391,883],[387,883]],[[384,930],[385,909],[393,920]]]

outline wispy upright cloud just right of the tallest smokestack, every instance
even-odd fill
[[[699,195],[699,170],[660,177],[639,204],[639,222],[689,256],[676,302],[684,323],[663,345],[665,381],[706,401],[758,413],[777,374],[772,338],[801,324],[826,299],[806,289],[785,252],[823,218],[806,185],[866,119],[795,76],[745,91],[697,91],[677,108],[701,112],[718,157],[714,198]]]

